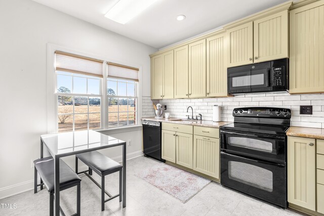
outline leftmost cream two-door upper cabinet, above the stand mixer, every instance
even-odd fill
[[[173,51],[151,58],[151,99],[174,98]]]

